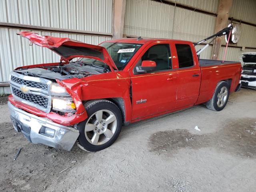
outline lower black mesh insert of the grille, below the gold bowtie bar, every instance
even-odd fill
[[[37,104],[41,107],[47,108],[48,106],[48,98],[40,95],[34,95],[34,94],[26,94],[23,93],[21,90],[18,90],[14,87],[12,87],[12,93],[17,96],[18,98],[21,98],[23,100],[26,100],[28,102],[32,102],[34,104]]]

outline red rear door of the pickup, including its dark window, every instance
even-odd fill
[[[177,62],[178,72],[175,108],[183,108],[194,105],[198,99],[201,70],[192,44],[178,42],[174,46],[176,48],[174,62]]]

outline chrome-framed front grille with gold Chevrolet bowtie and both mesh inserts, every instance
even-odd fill
[[[52,108],[51,83],[44,78],[25,76],[16,72],[10,75],[10,86],[14,98],[44,112],[50,112]]]

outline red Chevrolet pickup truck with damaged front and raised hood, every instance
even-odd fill
[[[95,46],[18,34],[61,56],[10,75],[10,117],[32,143],[102,150],[122,125],[202,103],[220,111],[240,89],[239,62],[198,61],[189,41],[123,38]]]

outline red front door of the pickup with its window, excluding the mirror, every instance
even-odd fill
[[[156,62],[154,71],[138,74],[143,60]],[[154,44],[138,58],[130,72],[132,81],[132,120],[160,114],[175,107],[177,72],[172,70],[170,45]]]

